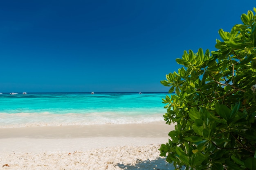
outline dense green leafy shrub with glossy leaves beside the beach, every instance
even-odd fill
[[[256,8],[254,8],[256,13]],[[217,51],[184,51],[178,72],[161,81],[169,86],[167,124],[175,123],[161,156],[177,169],[255,170],[256,15],[222,29]]]

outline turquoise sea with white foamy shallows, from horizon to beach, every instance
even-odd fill
[[[164,121],[168,93],[0,94],[0,127]]]

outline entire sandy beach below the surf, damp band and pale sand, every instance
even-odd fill
[[[2,128],[0,168],[173,170],[158,150],[172,129],[164,122]]]

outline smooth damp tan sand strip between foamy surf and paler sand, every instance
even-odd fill
[[[79,137],[168,137],[174,124],[164,121],[137,124],[92,124],[65,126],[27,126],[0,128],[0,139],[27,138],[79,138]]]

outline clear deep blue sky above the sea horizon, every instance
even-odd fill
[[[168,92],[255,0],[2,0],[0,92]]]

